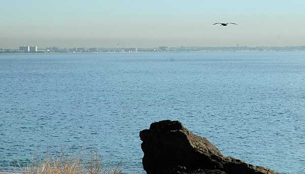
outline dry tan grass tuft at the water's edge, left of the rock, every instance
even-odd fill
[[[59,157],[50,157],[47,153],[43,160],[33,159],[20,170],[25,174],[121,174],[120,165],[102,165],[101,157],[94,150],[86,160],[80,154],[69,156],[62,151]]]

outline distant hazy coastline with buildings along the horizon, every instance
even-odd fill
[[[50,54],[50,53],[155,53],[155,52],[291,52],[305,51],[305,46],[285,46],[285,47],[198,47],[198,46],[180,46],[168,47],[160,46],[156,48],[58,48],[47,47],[35,50],[23,49],[4,49],[0,48],[0,54]],[[28,51],[29,50],[29,51]]]

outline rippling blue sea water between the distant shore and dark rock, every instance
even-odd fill
[[[181,121],[226,156],[305,173],[305,52],[0,55],[0,171],[98,149],[145,173],[139,131]]]

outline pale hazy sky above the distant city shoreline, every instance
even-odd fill
[[[304,7],[304,0],[1,0],[0,48],[305,45]]]

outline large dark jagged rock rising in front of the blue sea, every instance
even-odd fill
[[[275,174],[226,157],[204,137],[192,133],[179,121],[164,120],[140,131],[147,174]]]

